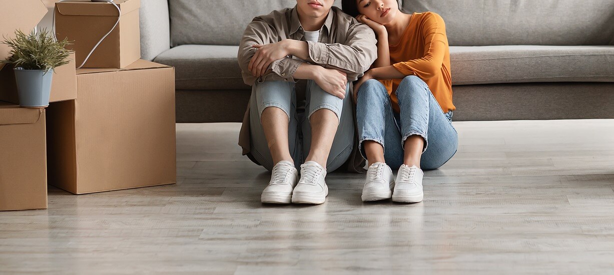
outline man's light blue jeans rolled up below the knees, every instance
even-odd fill
[[[297,113],[297,95],[295,83],[289,81],[264,81],[252,86],[250,99],[249,124],[251,134],[251,156],[267,170],[273,169],[273,158],[266,141],[265,132],[260,123],[262,111],[268,107],[278,107],[288,115],[288,145],[290,156],[295,166],[305,162],[311,147],[311,124],[309,118],[317,110],[326,108],[337,115],[340,120],[335,133],[326,169],[336,170],[348,160],[354,148],[354,116],[352,102],[349,96],[349,85],[346,87],[345,99],[333,96],[324,91],[313,80],[307,81],[305,91],[305,113]]]

